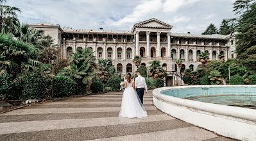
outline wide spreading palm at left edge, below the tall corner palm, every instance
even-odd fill
[[[7,71],[21,80],[23,72],[42,64],[37,61],[38,56],[38,49],[32,44],[13,40],[10,34],[0,34],[0,72]]]

